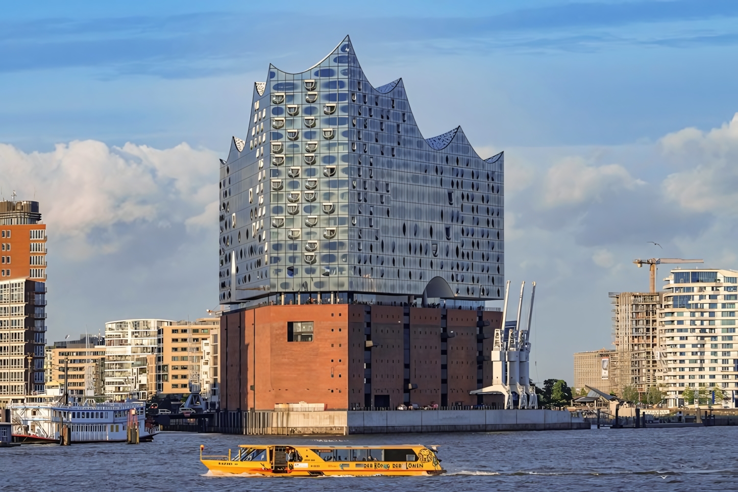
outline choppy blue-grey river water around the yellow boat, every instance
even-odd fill
[[[738,427],[251,437],[162,433],[153,443],[0,448],[1,491],[738,490]],[[199,462],[243,443],[438,444],[442,477],[239,477]]]

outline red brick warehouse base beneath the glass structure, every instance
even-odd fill
[[[499,311],[331,304],[263,305],[221,316],[221,409],[275,403],[328,409],[400,403],[500,405],[469,395],[492,384],[491,333]],[[312,323],[311,341],[289,327]],[[485,325],[489,322],[489,325]],[[487,338],[485,338],[487,337]]]

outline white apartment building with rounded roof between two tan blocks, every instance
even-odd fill
[[[105,394],[122,401],[156,393],[156,367],[168,319],[123,319],[105,324]]]

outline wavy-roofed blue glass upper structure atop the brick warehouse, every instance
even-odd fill
[[[501,299],[503,153],[424,139],[402,80],[372,86],[348,36],[269,67],[220,170],[220,302]]]

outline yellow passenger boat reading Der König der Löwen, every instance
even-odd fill
[[[405,476],[446,473],[438,446],[238,446],[233,455],[208,456],[200,446],[200,461],[208,469],[264,477],[323,477],[329,475]]]

